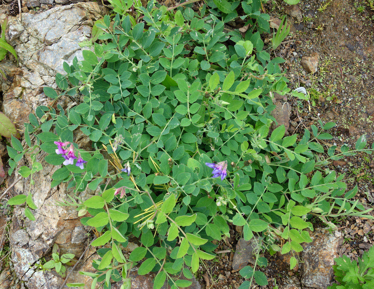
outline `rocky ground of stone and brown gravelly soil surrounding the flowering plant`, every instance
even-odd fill
[[[93,22],[107,13],[95,2],[75,2],[79,1],[27,0],[22,4],[22,21],[18,16],[9,17],[6,39],[18,53],[20,65],[16,66],[13,59],[0,63],[0,69],[6,74],[6,80],[1,81],[0,100],[2,111],[19,130],[27,122],[28,113],[48,103],[43,86],[56,87],[54,76],[61,72],[62,61],[69,61],[76,55],[80,57],[82,47],[78,43],[89,39]],[[166,2],[168,6],[175,4]],[[289,87],[304,86],[311,96],[310,106],[306,101],[291,97],[278,98],[277,114],[283,117],[288,132],[302,135],[304,128],[309,129],[321,119],[337,123],[331,130],[334,138],[323,143],[326,148],[343,144],[353,148],[363,134],[371,145],[374,141],[374,11],[367,6],[367,1],[302,0],[297,6],[288,6],[276,0],[264,5],[264,10],[273,17],[275,28],[279,19],[288,15],[292,33],[272,56],[286,59],[283,69],[290,80]],[[0,22],[6,16],[0,11]],[[265,43],[270,37],[264,36]],[[69,106],[73,102],[62,99],[61,105]],[[77,139],[81,147],[89,145],[84,137],[77,136]],[[0,155],[5,163],[6,148],[2,143]],[[39,161],[42,162],[42,158]],[[19,181],[0,200],[0,289],[58,289],[64,281],[60,276],[53,271],[30,269],[30,264],[37,264],[40,258],[50,258],[53,243],[58,244],[61,252],[74,253],[77,257],[83,254],[68,282],[89,283],[78,271],[94,270],[91,261],[98,255],[86,247],[93,235],[87,234],[76,212],[54,206],[56,200],[66,197],[66,190],[61,185],[50,189],[50,179],[56,168],[46,163],[43,166],[46,169],[35,176],[43,182],[31,188],[40,208],[35,214],[37,222],[22,218],[21,208],[10,213],[6,206],[6,199],[23,192],[29,183]],[[372,206],[373,156],[347,157],[331,163],[330,168],[345,172],[349,188],[359,186],[356,198],[365,206]],[[16,177],[0,179],[3,186],[0,195],[17,180]],[[92,193],[85,191],[82,196]],[[294,270],[289,270],[291,256],[266,255],[269,265],[261,270],[268,277],[269,288],[278,285],[280,289],[325,289],[333,277],[331,265],[335,257],[344,253],[357,259],[372,246],[374,225],[371,220],[332,221],[338,230],[319,228],[324,225],[316,222],[316,230],[311,234],[313,242],[304,246],[299,256],[303,262]],[[238,271],[253,263],[253,242],[241,239],[240,227],[232,227],[230,233],[230,238],[217,242],[217,258],[202,264],[190,288],[234,289],[242,284],[244,280]],[[129,250],[136,246],[134,240]],[[132,288],[153,288],[151,274],[138,276],[135,269],[132,277]],[[112,288],[120,288],[120,284]],[[253,288],[260,287],[254,285]]]

